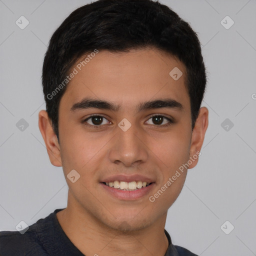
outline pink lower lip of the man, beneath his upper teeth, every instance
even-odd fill
[[[105,185],[104,183],[100,183],[103,188],[110,193],[112,196],[118,199],[123,199],[123,200],[135,200],[139,199],[146,194],[149,193],[150,190],[154,187],[154,183],[151,183],[148,186],[138,188],[136,190],[119,190],[110,186]]]

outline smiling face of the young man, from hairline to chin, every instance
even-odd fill
[[[180,166],[200,150],[198,134],[206,129],[192,133],[185,67],[147,48],[102,50],[81,70],[77,63],[59,104],[55,155],[68,200],[110,228],[146,227],[166,216],[185,180],[187,170]],[[183,73],[177,80],[169,74],[174,67]],[[75,182],[67,178],[71,170],[74,180],[80,175]]]

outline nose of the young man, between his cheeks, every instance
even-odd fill
[[[117,127],[117,134],[113,138],[109,151],[109,159],[125,167],[134,167],[146,161],[148,157],[146,144],[146,134],[143,134],[142,130],[139,132],[135,124],[126,131]]]

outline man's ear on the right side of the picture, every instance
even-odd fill
[[[208,109],[203,106],[199,109],[198,117],[195,121],[192,131],[191,144],[189,150],[189,164],[188,169],[193,168],[198,162],[198,154],[201,150],[204,134],[208,127]],[[195,157],[196,156],[196,157]]]

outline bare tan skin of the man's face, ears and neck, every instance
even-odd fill
[[[169,75],[174,67],[183,72],[176,81]],[[67,207],[57,213],[57,219],[83,254],[165,254],[167,210],[182,189],[187,169],[154,202],[148,197],[200,151],[208,126],[208,109],[201,107],[191,130],[184,78],[183,63],[158,49],[118,53],[101,50],[70,80],[60,100],[59,143],[46,111],[39,112],[39,129],[49,159],[53,165],[62,166],[69,187]],[[84,97],[110,101],[120,108],[71,111],[72,105]],[[164,98],[175,99],[183,108],[136,112],[137,104]],[[91,114],[106,118],[100,128],[93,127],[97,124],[93,118],[87,120],[88,126],[82,122]],[[167,119],[157,124],[151,114],[174,122],[161,127],[168,123]],[[125,132],[118,127],[123,118],[131,123]],[[192,161],[189,168],[197,161]],[[74,183],[67,178],[72,169],[80,174]],[[148,175],[154,178],[154,187],[136,200],[113,198],[99,182],[118,173]]]

